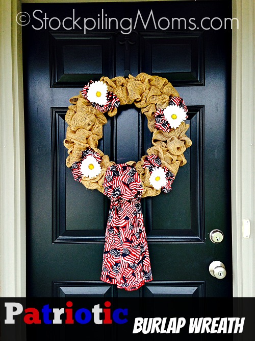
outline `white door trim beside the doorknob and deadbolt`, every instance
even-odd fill
[[[254,157],[254,39],[253,0],[233,1],[232,48],[232,234],[235,297],[255,296],[255,157]],[[242,221],[251,223],[250,238],[242,236]]]

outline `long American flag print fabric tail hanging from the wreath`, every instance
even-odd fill
[[[133,166],[109,166],[104,194],[110,198],[101,281],[127,291],[152,281],[141,208],[143,186]]]

